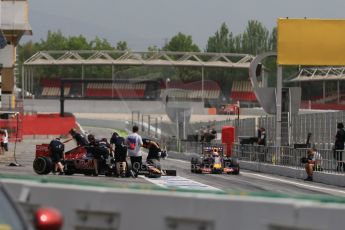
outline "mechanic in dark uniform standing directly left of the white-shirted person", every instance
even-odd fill
[[[116,173],[119,176],[126,176],[126,158],[127,146],[125,145],[125,138],[121,137],[117,132],[114,132],[110,138],[110,145],[114,150],[114,158],[116,164]]]

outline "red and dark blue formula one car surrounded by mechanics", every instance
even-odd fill
[[[92,175],[94,173],[93,155],[88,146],[78,146],[65,152],[64,172],[65,175],[75,173]],[[36,156],[33,162],[33,169],[37,174],[49,174],[53,170],[53,163],[49,151],[49,144],[36,145]],[[119,176],[117,175],[116,162],[110,158],[100,158],[98,160],[98,171],[100,175]],[[153,161],[142,164],[138,170],[139,175],[147,177],[176,176],[175,170],[162,170],[159,161]],[[131,162],[126,160],[125,177],[134,176]]]

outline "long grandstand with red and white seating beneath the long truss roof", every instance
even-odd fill
[[[54,98],[60,96],[61,80],[58,78],[46,78],[41,80],[41,97]],[[84,86],[83,86],[84,85]],[[82,90],[84,87],[84,90]],[[202,88],[204,88],[202,90]],[[176,90],[174,90],[176,89]],[[200,101],[205,99],[211,104],[222,99],[222,90],[216,81],[138,81],[115,80],[111,82],[67,83],[64,87],[65,97],[85,98],[112,98],[112,99],[151,99],[156,100],[169,90],[169,98],[175,100]],[[84,95],[82,95],[84,94]],[[234,81],[229,95],[232,101],[243,103],[256,103],[256,97],[249,81]]]

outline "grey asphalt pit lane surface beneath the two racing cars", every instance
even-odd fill
[[[110,137],[112,129],[110,128],[96,128],[84,127],[85,130],[91,131],[97,137]],[[190,172],[190,162],[166,159],[162,160],[162,168],[177,170],[178,177],[162,177],[161,179],[148,180],[144,177],[139,178],[115,178],[105,176],[58,176],[36,175],[32,169],[32,162],[34,159],[35,145],[40,143],[48,143],[49,138],[26,140],[18,143],[16,146],[17,162],[22,166],[10,167],[9,163],[14,162],[13,154],[7,153],[5,156],[0,157],[0,178],[6,177],[29,177],[29,178],[64,178],[69,181],[87,182],[87,183],[102,183],[109,186],[181,186],[180,188],[193,188],[193,183],[197,184],[196,189],[206,190],[222,190],[229,193],[261,193],[261,194],[281,194],[289,196],[318,196],[318,195],[331,195],[345,197],[345,188],[331,185],[324,185],[315,182],[305,182],[294,178],[257,173],[248,170],[241,170],[240,175],[211,175],[211,174],[192,174]],[[73,141],[66,143],[66,149],[73,148],[75,143]],[[10,146],[10,151],[13,151],[13,144]],[[172,181],[170,183],[170,181]],[[176,183],[177,181],[177,183]],[[169,184],[170,183],[170,184]],[[205,187],[202,187],[205,186]],[[195,187],[195,186],[194,186]]]

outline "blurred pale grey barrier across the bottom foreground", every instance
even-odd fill
[[[26,210],[58,208],[64,229],[343,229],[345,200],[115,189],[3,180]]]

